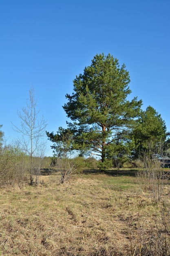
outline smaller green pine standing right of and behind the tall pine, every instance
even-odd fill
[[[154,108],[148,106],[146,111],[141,111],[137,125],[133,130],[135,139],[135,150],[133,152],[135,158],[142,151],[148,150],[148,143],[157,146],[158,143],[163,143],[166,140],[166,124],[161,118],[161,115]]]

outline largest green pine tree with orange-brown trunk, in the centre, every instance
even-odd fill
[[[137,97],[127,100],[131,90],[125,68],[119,67],[118,60],[110,54],[97,54],[91,66],[84,68],[84,74],[76,76],[74,92],[66,94],[68,102],[63,106],[73,121],[68,128],[74,135],[75,148],[100,156],[102,162],[117,134],[121,136],[132,128],[142,104]]]

